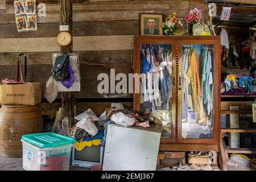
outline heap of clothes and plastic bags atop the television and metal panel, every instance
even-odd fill
[[[144,116],[132,110],[121,107],[110,107],[100,117],[97,117],[91,109],[84,111],[75,117],[77,123],[69,130],[69,137],[76,139],[75,148],[81,151],[84,147],[101,144],[105,145],[107,128],[110,123],[131,127],[152,127],[156,124],[148,114]]]

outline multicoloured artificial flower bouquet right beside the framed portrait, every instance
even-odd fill
[[[173,13],[172,16],[169,15],[162,24],[164,34],[166,35],[184,35],[186,30],[183,30],[182,27],[183,23],[180,19],[176,18],[176,13]]]

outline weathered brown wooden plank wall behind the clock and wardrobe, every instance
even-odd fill
[[[19,52],[26,52],[28,81],[41,82],[44,94],[46,81],[51,76],[52,52],[60,51],[56,42],[60,15],[57,0],[36,1],[41,2],[47,5],[47,16],[38,17],[38,31],[18,33],[13,0],[0,0],[0,78],[15,77],[16,57]],[[140,13],[159,13],[166,18],[176,12],[183,18],[196,5],[207,16],[208,5],[204,0],[74,0],[73,50],[79,53],[81,72],[81,92],[75,97],[78,102],[86,102],[79,104],[78,113],[91,107],[100,114],[110,106],[111,99],[131,108],[132,94],[97,93],[98,74],[109,75],[111,68],[115,68],[115,74],[133,73],[131,43],[133,36],[139,35]],[[59,105],[44,103],[43,113],[54,114]]]

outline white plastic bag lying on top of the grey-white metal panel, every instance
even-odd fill
[[[123,114],[122,112],[115,113],[110,117],[110,120],[117,123],[117,125],[122,125],[125,127],[133,126],[137,120],[135,120],[133,117],[129,117],[126,114]]]

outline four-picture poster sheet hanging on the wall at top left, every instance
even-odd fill
[[[14,1],[14,9],[18,32],[38,30],[35,0]]]

